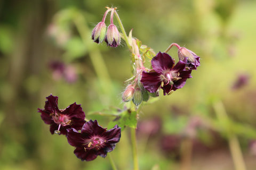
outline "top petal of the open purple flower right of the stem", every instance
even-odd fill
[[[157,53],[157,55],[152,58],[151,65],[157,73],[162,73],[164,70],[171,70],[174,62],[172,57],[167,53]]]

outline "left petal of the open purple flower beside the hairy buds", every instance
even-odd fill
[[[159,77],[159,73],[157,72],[142,72],[141,83],[143,84],[144,88],[147,89],[149,92],[154,93],[158,90],[159,86],[161,85],[161,80]]]

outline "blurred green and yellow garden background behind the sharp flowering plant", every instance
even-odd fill
[[[201,56],[184,88],[170,96],[161,91],[143,105],[140,169],[229,170],[243,160],[246,169],[255,169],[252,0],[1,0],[0,169],[111,169],[108,157],[77,159],[74,147],[50,134],[37,113],[52,94],[59,97],[59,108],[76,102],[87,119],[107,127],[113,117],[93,113],[124,106],[129,50],[124,42],[110,48],[90,38],[105,6],[117,7],[126,32],[133,29],[156,53],[178,43]],[[177,49],[169,54],[178,60]],[[132,169],[129,131],[122,131],[111,152],[118,169]],[[240,149],[243,159],[234,164]]]

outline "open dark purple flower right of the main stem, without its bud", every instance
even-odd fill
[[[172,57],[167,53],[157,53],[152,59],[153,72],[142,72],[141,83],[149,92],[154,93],[161,88],[164,95],[170,95],[173,91],[182,88],[186,80],[191,78],[191,70],[186,70],[185,61],[179,61],[174,66]]]

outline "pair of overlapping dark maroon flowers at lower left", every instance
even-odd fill
[[[66,135],[68,143],[76,147],[74,154],[81,160],[94,160],[97,156],[105,158],[121,138],[121,128],[117,125],[107,131],[97,120],[85,121],[81,105],[76,103],[66,109],[58,108],[58,97],[46,97],[44,109],[39,109],[42,120],[50,124],[52,134]],[[81,130],[81,132],[79,132]]]

